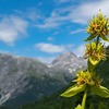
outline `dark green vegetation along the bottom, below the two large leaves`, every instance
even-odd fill
[[[69,86],[71,85],[72,83]],[[60,97],[59,95],[68,87],[61,89],[50,97],[45,97],[44,99],[40,99],[38,101],[21,106],[20,109],[74,109],[77,104],[81,104],[83,93],[80,93],[78,95],[70,98]],[[108,107],[109,99],[105,99],[93,94],[89,94],[87,96],[86,109],[108,109]]]

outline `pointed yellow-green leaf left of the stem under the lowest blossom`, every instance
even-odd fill
[[[86,84],[83,84],[83,85],[73,85],[71,86],[69,89],[66,89],[63,94],[61,94],[61,96],[63,97],[72,97],[74,95],[76,95],[77,93],[81,93],[85,89],[86,87]]]

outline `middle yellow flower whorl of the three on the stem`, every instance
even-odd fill
[[[88,58],[92,64],[98,63],[106,59],[106,49],[101,43],[96,45],[95,41],[86,45],[85,58]]]

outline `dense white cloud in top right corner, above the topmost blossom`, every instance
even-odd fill
[[[74,8],[73,11],[70,12],[70,17],[72,22],[86,24],[92,16],[97,14],[99,10],[105,15],[109,16],[109,0],[99,0],[99,1],[88,1],[84,2]]]

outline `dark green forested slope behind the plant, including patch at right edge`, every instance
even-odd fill
[[[109,88],[109,57],[107,60],[100,61],[96,68],[96,72],[102,80],[101,85]],[[70,83],[52,96],[44,98],[39,101],[27,104],[22,106],[20,109],[74,109],[77,104],[82,102],[83,93],[71,98],[60,97],[60,95],[73,84],[74,83]],[[89,93],[86,100],[86,109],[109,109],[109,99]]]

